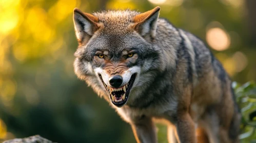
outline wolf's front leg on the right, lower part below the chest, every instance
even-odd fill
[[[194,122],[189,113],[183,113],[178,116],[176,131],[181,143],[196,142]]]

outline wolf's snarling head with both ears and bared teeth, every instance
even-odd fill
[[[79,44],[74,54],[75,74],[117,107],[126,104],[129,93],[146,84],[148,73],[159,66],[154,45],[159,10],[88,14],[74,9]]]

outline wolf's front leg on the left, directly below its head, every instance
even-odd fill
[[[150,117],[140,117],[131,124],[133,134],[138,143],[156,143],[156,129]]]

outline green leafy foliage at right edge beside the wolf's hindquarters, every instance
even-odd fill
[[[242,113],[241,135],[242,142],[256,141],[256,84],[247,82],[240,86],[233,82],[236,100]]]

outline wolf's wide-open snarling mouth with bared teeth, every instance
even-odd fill
[[[126,85],[124,85],[122,87],[119,87],[119,88],[109,87],[103,81],[102,76],[99,75],[99,77],[101,78],[106,90],[108,91],[110,101],[115,106],[122,107],[128,101],[129,93],[130,93],[130,90],[132,88],[133,82],[135,81],[136,74],[133,74],[131,76],[130,81]]]

